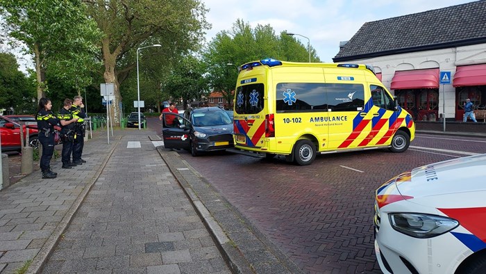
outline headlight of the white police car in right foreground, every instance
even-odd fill
[[[414,238],[432,238],[458,227],[452,218],[424,213],[389,213],[393,229]]]

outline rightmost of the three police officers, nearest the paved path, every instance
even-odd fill
[[[85,143],[85,120],[86,114],[83,110],[85,105],[83,104],[83,97],[76,96],[74,97],[74,102],[69,108],[71,111],[73,118],[77,118],[78,120],[74,123],[74,131],[76,135],[74,135],[74,145],[73,145],[73,163],[76,165],[82,165],[86,163],[85,160],[81,159],[81,155],[83,154],[83,147]]]

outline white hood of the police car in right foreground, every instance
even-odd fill
[[[486,154],[462,157],[414,168],[395,179],[404,200],[433,207],[454,202],[474,203],[486,197]],[[468,201],[469,200],[469,201]]]

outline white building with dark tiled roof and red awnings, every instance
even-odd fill
[[[333,61],[374,67],[418,120],[462,120],[465,99],[486,108],[486,1],[367,22]]]

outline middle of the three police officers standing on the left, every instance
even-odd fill
[[[74,145],[74,123],[78,121],[77,118],[73,117],[71,111],[69,111],[72,102],[72,99],[65,99],[64,106],[60,109],[58,114],[62,126],[60,132],[62,138],[62,168],[72,168],[72,166],[76,166],[75,163],[70,163]]]

